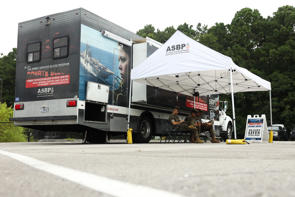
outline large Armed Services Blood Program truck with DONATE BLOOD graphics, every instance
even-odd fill
[[[195,104],[204,122],[214,120],[215,136],[231,139],[219,94],[189,96],[136,82],[130,88],[131,69],[160,46],[83,8],[21,22],[10,120],[45,132],[83,132],[90,143],[125,134],[129,124],[132,141],[147,143],[161,136],[161,120],[175,105],[184,120]]]

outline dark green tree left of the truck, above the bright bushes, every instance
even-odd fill
[[[14,102],[15,70],[17,49],[0,58],[0,78],[2,78],[2,102],[11,106]]]

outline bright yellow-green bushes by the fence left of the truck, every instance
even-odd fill
[[[6,103],[0,103],[0,122],[9,122],[13,117],[13,108],[7,107]],[[12,123],[0,123],[0,142],[25,142],[27,136],[24,128],[15,127]]]

